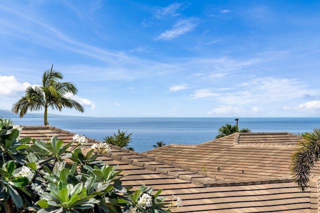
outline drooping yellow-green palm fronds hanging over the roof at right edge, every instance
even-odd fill
[[[320,128],[303,133],[302,139],[292,154],[289,168],[297,187],[304,191],[308,187],[310,172],[320,159]]]

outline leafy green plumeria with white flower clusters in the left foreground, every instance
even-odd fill
[[[85,136],[74,135],[63,143],[57,137],[46,142],[20,139],[21,128],[0,119],[0,212],[5,213],[166,213],[181,200],[164,203],[161,190],[123,187],[121,170],[97,160],[110,152],[108,144],[88,145]],[[76,143],[77,146],[72,146]]]

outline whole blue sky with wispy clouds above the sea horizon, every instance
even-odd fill
[[[1,0],[0,109],[44,70],[95,117],[320,117],[318,0]]]

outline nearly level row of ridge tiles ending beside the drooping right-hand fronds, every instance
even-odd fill
[[[249,186],[249,185],[291,183],[291,182],[293,182],[293,178],[291,176],[288,176],[288,177],[275,177],[275,178],[207,181],[206,183],[204,183],[204,186],[205,187]]]

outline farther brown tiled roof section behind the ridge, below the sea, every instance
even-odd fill
[[[302,138],[290,133],[235,133],[206,143],[168,145],[144,154],[194,170],[217,180],[290,176],[289,162]],[[315,169],[313,175],[320,175]]]

